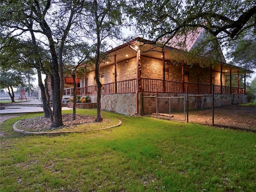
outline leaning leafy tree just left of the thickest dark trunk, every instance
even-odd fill
[[[26,73],[28,78],[28,84],[30,85],[30,80],[32,80],[30,74],[34,74],[32,68],[36,68],[38,74],[38,85],[42,93],[42,103],[45,117],[51,117],[52,110],[50,108],[50,102],[47,103],[46,99],[46,89],[42,82],[41,71],[44,74],[48,74],[48,62],[50,60],[48,53],[38,44],[36,44],[36,39],[34,38],[34,33],[31,32],[32,42],[24,41],[15,37],[4,37],[1,38],[1,64],[2,67],[6,69],[14,69]],[[26,81],[27,82],[27,81]],[[48,101],[50,100],[50,96]]]

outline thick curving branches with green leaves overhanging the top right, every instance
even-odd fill
[[[234,39],[254,28],[256,2],[251,0],[132,0],[130,18],[149,38],[166,42],[190,28],[204,28],[219,39]]]

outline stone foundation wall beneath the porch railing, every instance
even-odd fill
[[[144,114],[151,114],[156,112],[156,98],[155,97],[145,97],[145,96],[155,96],[156,93],[144,93],[138,94],[138,115],[142,115],[142,103]],[[191,95],[191,94],[189,94]],[[186,94],[168,94],[168,93],[158,93],[158,96],[174,96],[174,97],[185,97]],[[228,95],[228,94],[215,94],[214,95],[214,106],[227,106],[232,104],[242,104],[247,103],[247,95]],[[95,104],[97,101],[97,95],[90,96],[92,104]],[[143,100],[143,101],[142,101]],[[189,109],[202,109],[202,108],[211,108],[212,107],[212,96],[190,96],[188,97]],[[182,106],[181,101],[177,100],[177,105]],[[72,104],[72,106],[70,105]],[[81,103],[83,104],[83,103]],[[73,103],[69,103],[73,107]],[[176,106],[177,106],[176,105]],[[80,107],[78,107],[80,108]],[[123,93],[123,94],[102,94],[101,95],[101,108],[102,110],[117,112],[120,114],[126,115],[135,115],[136,114],[136,93]],[[145,109],[147,109],[145,111]],[[146,113],[145,113],[146,112]]]

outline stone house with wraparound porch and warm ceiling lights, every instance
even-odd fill
[[[161,48],[153,42],[134,38],[106,52],[108,61],[100,64],[102,110],[142,115],[145,114],[144,108],[150,105],[150,100],[145,98],[155,96],[156,92],[163,96],[186,96],[188,87],[188,94],[211,94],[212,83],[215,94],[227,100],[232,96],[237,103],[247,102],[245,74],[241,73],[243,69],[227,64],[221,50],[218,61],[212,65],[207,64],[209,60],[205,56],[198,56],[200,62],[193,61],[192,64],[180,59],[183,56],[186,58],[186,53],[200,40],[202,33],[204,30],[198,33],[196,39],[185,43],[186,51],[175,48],[172,42]],[[238,81],[236,87],[232,87],[231,83],[225,86],[225,76],[233,75],[244,75],[244,84]],[[66,77],[66,86],[68,80]],[[64,89],[64,97],[72,93],[72,82],[69,83],[70,88]],[[77,95],[89,95],[91,101],[96,102],[97,86],[93,69],[80,77],[77,84]]]

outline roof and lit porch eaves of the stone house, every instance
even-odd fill
[[[193,47],[198,43],[200,42],[201,38],[204,37],[205,35],[205,30],[198,30],[193,34],[189,34],[186,36],[184,42],[186,42],[186,47],[184,47],[184,50],[183,51],[190,51],[193,49]],[[182,37],[180,37],[182,38]],[[165,59],[166,61],[170,60],[170,58],[168,58],[168,55],[171,55],[171,51],[173,50],[182,50],[182,49],[179,49],[178,46],[177,46],[177,43],[174,43],[175,41],[177,41],[179,38],[174,38],[172,41],[170,41],[170,43],[167,45],[167,46],[164,46],[164,48],[160,47],[160,46],[157,46],[155,42],[152,42],[150,40],[146,40],[146,39],[143,39],[141,37],[136,37],[132,40],[130,40],[129,42],[126,42],[116,48],[113,48],[112,50],[109,50],[106,52],[106,54],[109,55],[109,58],[108,58],[108,62],[104,62],[102,64],[100,64],[100,67],[104,67],[104,66],[108,66],[108,65],[111,65],[111,64],[114,64],[114,55],[116,55],[116,62],[122,62],[122,61],[125,61],[125,60],[129,60],[130,58],[134,58],[136,57],[136,54],[137,52],[133,49],[131,49],[129,47],[130,46],[135,46],[135,45],[139,45],[140,46],[140,50],[142,51],[141,52],[141,55],[142,56],[148,56],[148,57],[152,57],[152,58],[157,58],[157,59],[162,59],[162,52],[166,52],[165,54]],[[237,74],[238,71],[244,71],[246,69],[244,68],[240,68],[240,67],[237,67],[237,66],[233,66],[233,65],[230,65],[230,64],[227,64],[225,59],[224,59],[224,56],[222,54],[222,51],[221,49],[218,50],[220,52],[220,64],[218,64],[217,66],[215,66],[213,68],[213,70],[216,70],[216,71],[219,71],[220,72],[220,68],[222,66],[222,71],[223,72],[226,72],[228,75],[230,74],[230,69],[232,70],[232,75],[234,74]],[[154,54],[152,54],[152,52],[154,52]],[[206,56],[204,56],[206,57]],[[250,70],[246,70],[247,73],[252,73],[253,71],[250,71]]]

